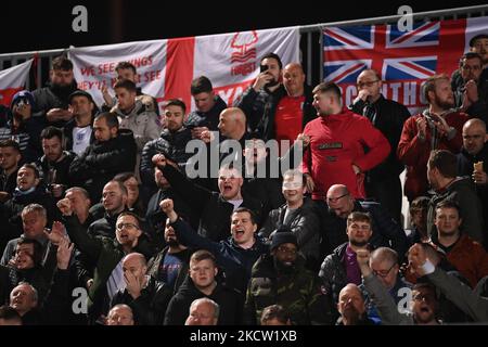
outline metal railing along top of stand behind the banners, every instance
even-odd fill
[[[415,22],[428,22],[438,20],[457,20],[461,17],[485,16],[488,14],[488,4],[447,9],[439,11],[427,11],[413,13]],[[319,23],[313,25],[299,26],[300,30],[300,57],[304,70],[307,75],[307,83],[317,85],[323,79],[323,46],[322,30],[331,26],[351,26],[351,25],[371,25],[371,24],[393,24],[398,22],[401,15],[380,16],[373,18],[351,20],[332,23]],[[49,69],[52,59],[64,52],[66,49],[54,49],[46,51],[17,52],[0,54],[0,70],[15,66],[31,57],[37,56],[37,64],[30,69],[30,78],[26,88],[31,90],[40,88],[43,81],[48,80]],[[37,77],[37,78],[36,78]]]

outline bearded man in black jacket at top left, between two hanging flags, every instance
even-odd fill
[[[72,61],[63,55],[53,59],[49,78],[48,87],[34,91],[36,108],[33,116],[43,117],[50,125],[61,128],[73,118],[68,100],[78,90]]]

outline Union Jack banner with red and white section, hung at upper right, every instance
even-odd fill
[[[338,83],[349,105],[359,74],[373,68],[383,80],[383,95],[416,112],[425,107],[422,82],[435,74],[451,76],[470,39],[481,33],[488,33],[488,17],[415,23],[407,31],[397,25],[326,27],[324,80]]]

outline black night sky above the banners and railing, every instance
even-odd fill
[[[290,2],[290,1],[288,1]],[[119,5],[115,5],[118,3]],[[0,52],[18,52],[164,39],[209,34],[307,25],[394,15],[401,4],[414,12],[484,4],[487,1],[9,1],[2,2]],[[88,33],[72,30],[72,9],[88,9]],[[331,4],[334,8],[331,8]],[[116,9],[119,9],[117,14]],[[118,35],[113,27],[119,24]]]

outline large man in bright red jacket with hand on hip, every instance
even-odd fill
[[[345,184],[354,197],[365,197],[364,172],[389,154],[388,140],[371,121],[344,107],[333,82],[313,89],[318,118],[305,126],[310,144],[301,167],[313,200],[324,200],[333,184]]]

